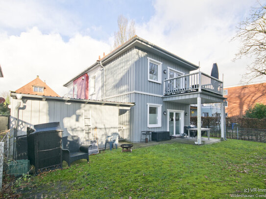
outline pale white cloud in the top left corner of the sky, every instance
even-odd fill
[[[37,26],[45,32],[73,36],[80,27],[78,17],[53,1],[0,1],[0,30],[25,31]]]

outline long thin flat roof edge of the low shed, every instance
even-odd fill
[[[33,99],[33,100],[42,100],[42,101],[63,101],[65,103],[82,103],[82,104],[96,104],[102,106],[119,106],[119,107],[133,107],[135,103],[130,102],[112,102],[112,101],[101,101],[101,100],[89,100],[89,99],[77,99],[70,97],[53,97],[45,95],[32,95],[32,94],[21,94],[21,93],[10,93],[11,97],[17,99]],[[19,96],[20,95],[20,96]]]

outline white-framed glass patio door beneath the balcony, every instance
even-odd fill
[[[173,136],[184,132],[184,111],[168,110],[167,130]]]

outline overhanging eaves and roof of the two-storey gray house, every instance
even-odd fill
[[[114,49],[113,51],[111,51],[109,54],[107,54],[106,56],[100,58],[99,60],[97,60],[96,63],[94,63],[93,65],[85,68],[83,71],[81,71],[80,73],[78,73],[76,76],[74,76],[70,81],[68,81],[66,84],[64,84],[63,86],[66,87],[69,83],[71,83],[73,80],[75,80],[77,77],[81,76],[82,74],[84,74],[85,72],[87,72],[88,70],[90,70],[92,67],[97,66],[98,64],[102,63],[102,65],[104,66],[104,63],[107,63],[109,61],[111,61],[112,59],[114,59],[115,57],[119,56],[121,53],[123,53],[124,51],[128,50],[129,48],[133,47],[133,46],[137,46],[141,49],[150,51],[154,54],[157,54],[159,56],[165,56],[167,57],[168,60],[179,64],[180,66],[184,66],[189,68],[190,70],[195,70],[198,69],[198,66],[192,64],[189,61],[184,60],[181,57],[178,57],[177,55],[157,46],[154,45],[140,37],[138,37],[137,35],[135,35],[134,37],[132,37],[131,39],[129,39],[128,41],[126,41],[124,44],[121,44],[120,46],[118,46],[116,49]]]

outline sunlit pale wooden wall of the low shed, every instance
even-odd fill
[[[11,101],[10,128],[14,133],[16,124],[16,99]],[[99,148],[103,148],[105,138],[111,133],[118,132],[119,108],[117,106],[101,106],[82,103],[64,103],[58,101],[24,100],[19,108],[19,131],[17,135],[26,134],[27,127],[33,128],[36,124],[47,122],[60,122],[63,136],[78,135],[81,141],[87,139],[84,133],[83,111],[91,112],[92,133],[90,138],[94,139],[97,127],[97,138]],[[89,133],[90,134],[90,133]],[[16,135],[15,135],[16,136]],[[12,140],[11,140],[11,142]],[[10,149],[13,145],[10,147]],[[13,149],[13,148],[12,148]],[[11,154],[13,151],[11,151]]]

